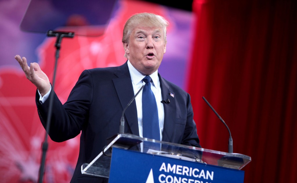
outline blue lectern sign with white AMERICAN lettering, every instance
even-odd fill
[[[113,147],[109,182],[243,183],[244,171]]]

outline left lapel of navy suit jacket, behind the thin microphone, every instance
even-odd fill
[[[118,78],[113,79],[113,84],[116,88],[116,92],[121,102],[121,106],[124,110],[131,98],[133,98],[134,96],[134,90],[127,62],[124,65],[119,66],[118,70],[115,72],[115,75]],[[137,109],[135,101],[133,101],[132,104],[126,109],[125,117],[125,125],[128,124],[128,128],[130,128],[132,134],[139,136]],[[126,129],[127,127],[125,127],[125,133],[127,133]]]

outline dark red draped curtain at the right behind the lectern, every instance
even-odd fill
[[[252,157],[245,182],[296,182],[297,3],[196,0],[187,90],[202,147]]]

